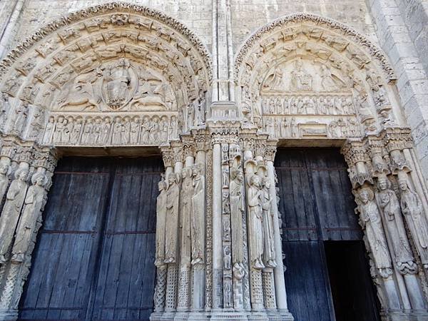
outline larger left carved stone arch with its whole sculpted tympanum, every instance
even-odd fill
[[[202,122],[211,59],[183,24],[111,3],[39,29],[0,62],[1,131],[56,146],[158,145]]]

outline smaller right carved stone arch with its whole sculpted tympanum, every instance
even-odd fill
[[[382,51],[314,14],[256,31],[235,57],[235,79],[243,116],[276,138],[360,138],[402,122]]]

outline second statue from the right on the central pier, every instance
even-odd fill
[[[250,178],[250,188],[248,188],[248,208],[251,225],[251,264],[255,269],[265,268],[263,264],[263,210],[260,202],[260,177],[253,175]]]

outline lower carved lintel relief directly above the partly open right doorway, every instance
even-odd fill
[[[329,123],[303,122],[299,117],[273,116],[265,118],[265,131],[272,138],[302,138],[320,136],[329,138],[361,137],[360,123],[355,117],[340,117]]]

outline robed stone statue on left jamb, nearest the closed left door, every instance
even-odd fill
[[[24,262],[24,258],[29,245],[32,242],[34,230],[37,222],[41,220],[41,208],[44,205],[46,176],[43,173],[36,173],[31,178],[31,185],[26,193],[24,209],[19,219],[16,230],[14,247],[12,248],[12,258],[14,262]]]

